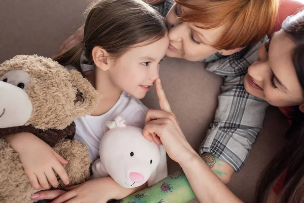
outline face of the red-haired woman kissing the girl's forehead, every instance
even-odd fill
[[[184,58],[189,61],[200,61],[217,52],[223,52],[223,55],[231,54],[230,52],[226,53],[225,50],[217,50],[212,47],[221,39],[224,31],[223,26],[206,30],[196,27],[193,23],[186,23],[177,19],[182,13],[189,11],[191,10],[175,3],[168,12],[166,20],[170,27],[170,45],[166,55]],[[196,25],[201,26],[200,23]]]

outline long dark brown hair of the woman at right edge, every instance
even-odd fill
[[[304,11],[286,18],[282,29],[297,44],[292,60],[304,95]],[[288,144],[274,157],[260,177],[256,190],[257,202],[266,202],[269,191],[286,173],[278,202],[304,202],[304,114],[294,108],[292,125],[286,136]]]

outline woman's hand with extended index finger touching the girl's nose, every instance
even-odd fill
[[[142,133],[149,141],[163,143],[170,158],[180,163],[191,158],[196,152],[187,142],[175,115],[171,111],[160,79],[157,79],[155,85],[161,110],[148,110]]]

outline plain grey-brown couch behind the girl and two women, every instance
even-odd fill
[[[0,1],[0,63],[18,54],[51,57],[84,22],[83,11],[87,5],[86,0]],[[206,72],[203,63],[174,58],[165,58],[160,75],[186,138],[198,150],[213,120],[222,79]],[[148,108],[159,108],[155,89],[148,92],[143,103]],[[241,172],[233,175],[228,184],[245,202],[254,202],[257,178],[284,145],[287,127],[278,109],[270,107],[264,119],[264,128],[245,166]],[[180,168],[170,159],[168,165],[169,173]]]

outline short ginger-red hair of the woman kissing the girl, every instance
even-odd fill
[[[182,21],[203,29],[224,26],[222,38],[214,48],[235,49],[257,43],[272,29],[278,14],[279,0],[207,0],[189,3],[175,0],[192,9],[181,16]]]

